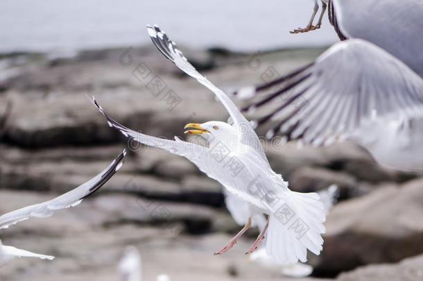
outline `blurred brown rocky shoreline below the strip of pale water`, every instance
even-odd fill
[[[231,90],[305,65],[324,49],[185,50],[210,80]],[[123,147],[130,152],[123,169],[82,205],[2,231],[5,244],[57,259],[19,260],[0,271],[1,280],[117,280],[126,245],[140,248],[146,280],[159,273],[172,280],[280,279],[279,271],[251,264],[243,254],[253,232],[231,253],[214,257],[239,228],[225,210],[221,186],[182,157],[127,142],[85,96],[94,94],[122,124],[167,138],[182,136],[191,121],[227,119],[211,93],[153,47],[69,58],[10,54],[0,56],[0,65],[0,116],[7,117],[0,118],[0,214],[69,191]],[[419,173],[380,167],[348,142],[320,149],[273,142],[265,147],[291,189],[340,187],[340,203],[327,218],[323,253],[309,258],[315,276],[421,280]]]

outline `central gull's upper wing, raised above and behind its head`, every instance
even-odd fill
[[[245,119],[243,114],[236,108],[234,102],[230,99],[225,92],[216,87],[211,83],[205,76],[202,76],[198,71],[189,63],[187,58],[184,57],[182,52],[178,49],[175,42],[169,40],[169,37],[161,31],[157,26],[147,26],[148,34],[153,40],[153,43],[163,53],[163,55],[171,60],[177,67],[184,71],[189,76],[196,78],[198,82],[202,85],[205,85],[209,90],[216,94],[217,98],[223,103],[227,112],[229,112],[232,120],[234,121],[234,126],[236,127],[240,140],[243,144],[251,146],[255,151],[259,152],[261,157],[267,162],[266,155],[264,154],[263,148],[261,147],[259,137],[254,132],[250,122]]]

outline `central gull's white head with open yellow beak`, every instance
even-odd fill
[[[204,137],[210,146],[213,146],[217,142],[222,142],[225,146],[232,147],[238,144],[238,135],[236,129],[221,121],[208,121],[203,124],[190,123],[184,128],[186,134],[196,134]]]

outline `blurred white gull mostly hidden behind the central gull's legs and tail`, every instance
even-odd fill
[[[227,191],[224,192],[224,194],[226,207],[227,210],[230,211],[232,218],[234,218],[234,221],[239,225],[244,225],[245,221],[248,220],[248,205]],[[331,185],[327,189],[319,191],[318,194],[320,196],[320,201],[322,201],[325,206],[325,212],[328,213],[336,201],[338,201],[339,189],[336,185]],[[266,219],[262,215],[254,216],[252,222],[253,225],[257,225],[260,231],[262,231],[266,225]],[[313,267],[308,264],[284,264],[275,261],[275,259],[266,253],[265,247],[261,247],[259,250],[252,253],[250,255],[250,260],[266,268],[279,268],[281,269],[282,275],[293,278],[307,277],[313,272]]]

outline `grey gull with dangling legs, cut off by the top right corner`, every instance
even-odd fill
[[[328,3],[327,0],[324,1]],[[340,40],[356,38],[372,42],[402,60],[421,77],[422,15],[422,0],[329,1],[329,22],[334,26]],[[306,28],[308,29],[316,28],[311,26]]]

